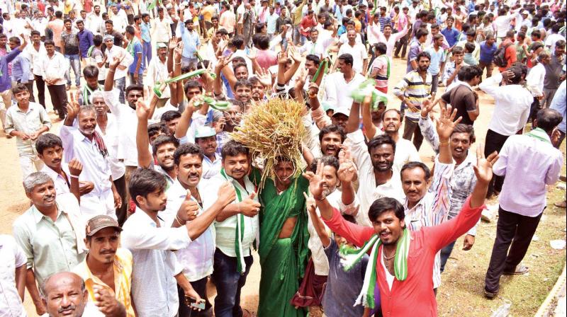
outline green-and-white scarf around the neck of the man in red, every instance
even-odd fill
[[[398,241],[398,246],[395,249],[394,258],[394,275],[398,281],[402,282],[408,277],[408,254],[410,253],[410,240],[411,235],[408,228],[403,229],[403,236]],[[356,304],[362,304],[364,307],[369,307],[374,309],[374,288],[376,287],[376,263],[378,263],[378,248],[382,244],[382,241],[378,238],[378,235],[374,234],[370,237],[369,241],[364,243],[364,246],[359,249],[349,248],[347,246],[341,246],[339,253],[341,258],[341,263],[343,264],[344,270],[352,270],[352,267],[360,262],[363,255],[372,248],[370,252],[371,265],[366,266],[366,272],[364,272],[364,283],[362,284],[362,290],[357,298]],[[383,252],[383,251],[382,251]]]

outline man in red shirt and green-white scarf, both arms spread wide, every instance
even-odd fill
[[[442,141],[444,142],[448,143],[449,140]],[[366,306],[374,308],[373,285],[377,284],[383,316],[412,316],[417,312],[420,316],[437,316],[432,282],[435,254],[465,234],[481,217],[488,182],[492,178],[492,166],[498,160],[496,153],[485,159],[482,146],[478,147],[476,156],[477,165],[474,170],[477,183],[459,215],[443,224],[424,227],[420,231],[405,229],[403,205],[390,197],[379,198],[369,208],[372,227],[345,221],[322,195],[322,175],[312,172],[304,174],[310,181],[309,190],[315,197],[321,217],[332,231],[359,247],[364,246],[366,241],[376,241],[369,260],[369,271],[365,275],[364,285],[369,287],[366,290],[363,287],[361,292]],[[322,171],[322,168],[317,171]],[[373,296],[369,296],[369,293],[373,293]]]

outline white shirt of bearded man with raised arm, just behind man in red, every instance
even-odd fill
[[[359,187],[357,192],[357,197],[360,202],[360,208],[357,213],[357,224],[361,226],[371,226],[368,210],[375,200],[381,197],[392,197],[399,202],[404,201],[405,195],[402,190],[400,172],[398,168],[393,166],[392,178],[382,185],[376,185],[374,166],[372,166],[368,147],[364,143],[362,131],[359,129],[347,134],[347,140],[352,142],[351,154],[354,161],[357,163],[360,184],[364,184]],[[396,146],[396,148],[398,148],[398,146]]]

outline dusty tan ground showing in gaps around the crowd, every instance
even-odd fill
[[[392,68],[390,87],[392,88],[405,74],[405,60],[395,59]],[[443,89],[443,88],[440,88]],[[493,100],[479,92],[481,96],[481,115],[475,122],[477,144],[483,142],[490,117],[493,113]],[[49,100],[49,98],[47,98]],[[390,108],[398,108],[399,102],[390,94]],[[48,101],[49,103],[49,101]],[[48,106],[48,110],[51,107]],[[55,119],[55,115],[52,119]],[[57,132],[60,122],[54,124],[52,132]],[[563,144],[563,153],[565,153]],[[431,163],[433,151],[427,142],[420,150],[422,160]],[[21,171],[16,152],[16,139],[6,139],[0,132],[0,159],[4,168],[0,171],[0,206],[4,212],[0,214],[0,233],[11,234],[11,224],[18,215],[22,214],[29,202],[21,186]],[[563,175],[564,175],[563,171]],[[490,316],[498,309],[505,299],[512,301],[513,316],[533,316],[553,287],[554,282],[565,263],[565,250],[554,250],[549,246],[549,240],[565,239],[565,209],[557,209],[552,203],[565,197],[564,190],[555,190],[550,194],[551,206],[537,231],[539,241],[534,241],[526,255],[527,265],[531,267],[529,276],[505,277],[502,280],[502,292],[499,299],[486,301],[482,297],[483,277],[490,250],[495,236],[495,224],[482,224],[478,229],[476,244],[468,252],[461,251],[457,246],[452,258],[447,263],[443,275],[443,285],[437,296],[440,316]],[[492,202],[495,203],[495,202]],[[256,311],[259,287],[259,259],[254,255],[254,265],[242,291],[242,306],[249,311]],[[537,266],[536,266],[537,265]],[[30,316],[35,316],[35,309],[26,294],[26,310]]]

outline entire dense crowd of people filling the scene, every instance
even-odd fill
[[[563,1],[0,10],[0,142],[16,144],[30,200],[0,235],[1,316],[28,316],[25,289],[45,316],[437,316],[456,240],[473,248],[490,197],[479,292],[494,299],[502,275],[529,272],[563,166]],[[481,92],[494,99],[485,135]],[[307,133],[301,161],[277,157],[264,180],[262,155],[232,133],[273,98],[305,105]]]

